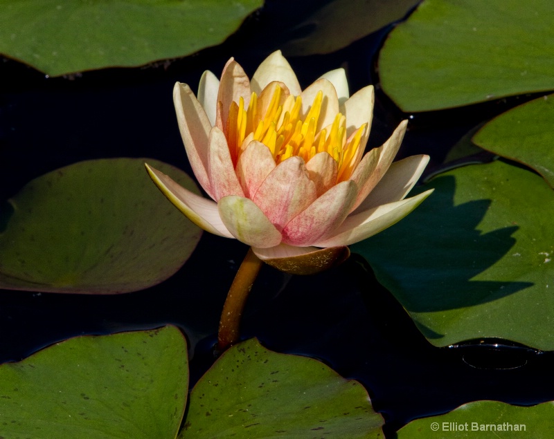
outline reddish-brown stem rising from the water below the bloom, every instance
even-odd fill
[[[237,343],[240,338],[240,318],[244,303],[261,267],[262,261],[249,248],[231,284],[221,313],[220,330],[217,334],[217,351],[220,353]]]

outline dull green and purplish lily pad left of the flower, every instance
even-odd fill
[[[147,160],[198,192],[183,171]],[[202,231],[159,193],[144,161],[75,163],[0,205],[0,288],[113,294],[179,270]]]

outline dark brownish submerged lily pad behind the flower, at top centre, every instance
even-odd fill
[[[402,19],[419,0],[334,0],[325,4],[292,32],[305,33],[282,46],[288,56],[335,52],[357,39]],[[304,32],[309,30],[308,32]]]

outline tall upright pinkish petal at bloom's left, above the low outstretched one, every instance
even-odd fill
[[[198,182],[210,196],[208,178],[208,135],[211,130],[206,111],[187,84],[177,82],[173,88],[173,102],[186,155]],[[212,196],[213,198],[213,196]]]

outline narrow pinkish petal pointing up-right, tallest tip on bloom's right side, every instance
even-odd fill
[[[368,152],[368,154],[370,154],[374,153],[373,151],[375,151],[375,153],[379,154],[379,161],[377,162],[377,166],[375,166],[375,169],[373,169],[373,172],[367,174],[363,169],[361,169],[358,175],[358,169],[361,166],[361,162],[364,161],[365,157],[361,159],[360,164],[350,177],[352,180],[355,180],[357,182],[359,188],[357,200],[352,210],[356,209],[356,207],[358,207],[360,203],[366,199],[368,194],[370,194],[373,188],[377,186],[377,183],[379,183],[381,178],[383,178],[383,176],[386,174],[386,171],[388,171],[388,167],[391,166],[391,163],[393,162],[398,149],[400,149],[400,144],[402,144],[402,139],[404,138],[404,133],[406,132],[407,125],[407,120],[403,120],[402,122],[400,122],[400,125],[398,125],[398,127],[395,129],[393,135],[388,138],[388,140],[384,142],[382,146],[374,148]]]

